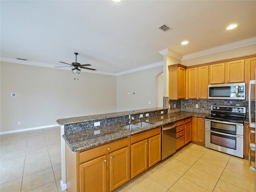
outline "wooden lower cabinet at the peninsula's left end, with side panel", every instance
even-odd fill
[[[66,144],[68,192],[109,192],[130,180],[130,139],[72,153]]]

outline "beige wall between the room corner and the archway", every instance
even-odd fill
[[[117,111],[157,107],[157,76],[162,71],[163,66],[158,66],[117,76]]]

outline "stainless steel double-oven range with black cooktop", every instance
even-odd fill
[[[212,105],[205,117],[205,146],[243,158],[245,118],[245,107]]]

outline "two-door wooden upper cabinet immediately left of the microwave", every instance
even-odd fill
[[[208,66],[187,69],[188,99],[208,98]]]

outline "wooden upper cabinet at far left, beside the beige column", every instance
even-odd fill
[[[186,66],[169,65],[169,99],[185,99],[186,97]]]

